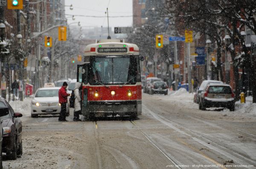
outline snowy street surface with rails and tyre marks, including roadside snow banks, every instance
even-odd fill
[[[23,155],[16,161],[3,156],[4,169],[256,166],[254,104],[250,112],[240,104],[234,112],[202,111],[184,90],[167,96],[143,93],[143,113],[138,119],[73,122],[70,113],[67,122],[58,122],[57,116],[31,118],[30,101],[16,103],[17,112],[23,113]],[[11,105],[15,109],[15,102]]]

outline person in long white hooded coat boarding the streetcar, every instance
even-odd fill
[[[80,96],[80,90],[81,90],[81,83],[76,82],[75,84],[75,110],[74,110],[74,118],[73,121],[81,121],[79,119],[79,114],[81,114],[81,96]]]

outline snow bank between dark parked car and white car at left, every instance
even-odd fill
[[[31,115],[31,103],[32,98],[25,98],[23,101],[10,101],[10,105],[12,106],[15,112],[22,113],[23,116],[30,116]]]

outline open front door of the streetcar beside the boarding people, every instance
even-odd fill
[[[77,75],[76,75],[76,81],[80,82],[83,86],[87,85],[88,83],[88,67],[89,63],[85,63],[83,65],[77,65]],[[86,87],[82,87],[81,93],[81,111],[82,114],[85,115],[88,113],[88,106],[87,106],[87,100],[88,100],[88,89]]]

